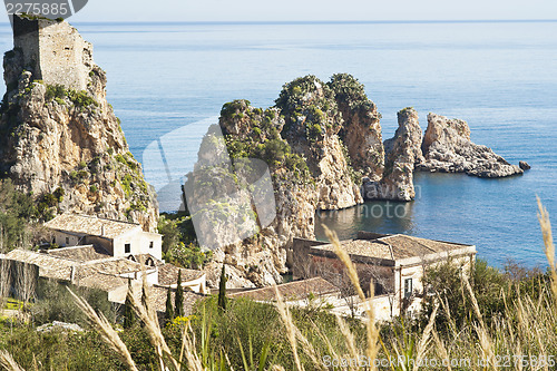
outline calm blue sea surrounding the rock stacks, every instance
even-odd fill
[[[497,267],[547,265],[536,196],[557,225],[557,21],[75,26],[95,46],[108,100],[162,209],[179,206],[179,183],[224,102],[268,107],[296,77],[348,72],[378,105],[384,139],[411,106],[423,130],[428,113],[465,119],[475,143],[532,168],[501,179],[418,173],[416,201],[317,213],[319,238],[322,224],[341,238],[404,233],[473,244]],[[9,25],[0,48],[12,48]]]

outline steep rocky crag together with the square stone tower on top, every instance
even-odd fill
[[[4,56],[0,174],[39,207],[127,218],[155,231],[158,209],[106,100],[92,46],[65,21],[14,17]]]

